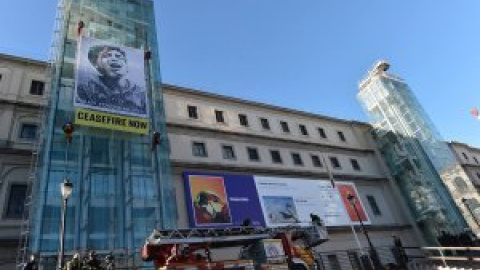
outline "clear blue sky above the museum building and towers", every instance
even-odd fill
[[[0,52],[45,59],[56,0],[5,1]],[[8,4],[7,4],[8,3]],[[368,121],[357,83],[378,59],[440,133],[480,147],[480,1],[155,0],[163,81]]]

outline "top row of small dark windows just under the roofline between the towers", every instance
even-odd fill
[[[187,106],[187,111],[188,111],[188,117],[190,119],[198,119],[198,108],[197,108],[197,106],[188,105]],[[215,110],[215,120],[217,121],[217,123],[225,124],[226,123],[225,112],[221,111],[221,110]],[[271,130],[270,122],[267,118],[260,117],[259,121],[260,121],[260,126],[262,127],[263,130]],[[250,126],[249,120],[248,120],[248,117],[247,117],[246,114],[238,114],[238,122],[243,127],[249,127]],[[283,133],[290,133],[290,126],[289,126],[288,122],[280,121],[280,128],[281,128]],[[307,126],[305,126],[303,124],[298,124],[298,129],[300,131],[300,134],[302,134],[304,136],[309,135]],[[320,138],[327,139],[327,134],[325,133],[325,130],[323,128],[317,127],[317,132],[318,132],[318,135],[320,136]],[[337,131],[337,135],[338,135],[338,138],[342,142],[347,141],[343,132]]]

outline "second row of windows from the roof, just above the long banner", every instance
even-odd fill
[[[260,155],[258,154],[258,149],[256,147],[247,146],[246,152],[248,159],[250,161],[259,162]],[[208,157],[207,148],[204,142],[193,142],[192,143],[192,154],[195,157]],[[235,160],[236,154],[234,147],[232,145],[222,145],[222,157],[223,159]],[[279,150],[270,150],[270,157],[272,162],[275,164],[282,164],[283,158]],[[304,166],[304,162],[300,153],[292,152],[291,153],[292,162],[296,166]],[[314,167],[323,167],[322,161],[318,155],[310,155],[312,165]],[[341,169],[342,166],[340,161],[336,157],[329,157],[330,164],[334,169]],[[361,171],[360,164],[354,158],[350,159],[352,168],[356,171]]]

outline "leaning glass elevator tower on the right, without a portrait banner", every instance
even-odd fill
[[[359,84],[358,99],[390,171],[427,240],[478,224],[465,202],[480,201],[471,180],[406,82],[378,62]],[[475,204],[475,205],[478,205]]]

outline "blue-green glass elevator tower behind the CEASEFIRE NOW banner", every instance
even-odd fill
[[[138,265],[139,247],[152,230],[175,228],[177,221],[153,1],[62,0],[58,12],[50,101],[32,188],[27,250],[40,254],[44,261],[55,258],[60,183],[69,179],[74,188],[66,211],[66,254],[95,249],[99,254],[126,258],[128,266]],[[146,52],[148,134],[74,124],[72,142],[67,144],[63,126],[75,118],[80,35]],[[152,143],[155,132],[161,137],[158,145]]]

